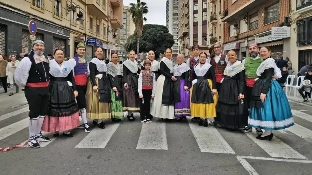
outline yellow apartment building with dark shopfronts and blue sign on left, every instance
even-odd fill
[[[106,57],[115,49],[115,39],[111,38],[122,26],[122,6],[122,0],[2,0],[0,49],[16,55],[28,53],[33,42],[28,23],[34,20],[36,40],[45,42],[46,55],[62,48],[73,57],[76,45],[85,42],[87,61],[93,58],[97,46],[103,48]]]

